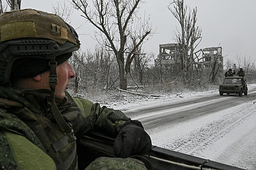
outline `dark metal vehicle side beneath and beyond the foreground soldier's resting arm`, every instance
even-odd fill
[[[115,157],[113,149],[114,138],[112,137],[100,133],[91,133],[79,139],[77,144],[80,170],[83,170],[100,156]],[[148,155],[142,156],[152,163],[155,170],[200,170],[202,164],[203,168],[216,170],[242,170],[234,166],[178,153],[157,146],[153,146]]]

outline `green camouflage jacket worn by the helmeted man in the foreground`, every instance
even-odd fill
[[[56,102],[64,119],[73,125],[77,138],[92,130],[117,135],[129,120],[121,111],[68,94]],[[65,164],[71,153],[74,161],[65,168],[76,169],[74,142],[59,152],[52,149],[51,144],[61,137],[47,95],[0,87],[0,169],[63,169],[59,165]]]

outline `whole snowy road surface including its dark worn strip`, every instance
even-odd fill
[[[125,105],[115,104],[113,108],[123,110],[132,119],[140,120],[151,136],[153,145],[247,170],[256,170],[256,89],[255,85],[248,88],[248,96],[243,97],[219,96],[215,90],[129,102]],[[181,102],[188,104],[179,105]],[[207,107],[209,103],[214,102],[224,103],[223,107],[220,107],[222,109],[217,105]],[[231,104],[225,107],[225,103]],[[163,105],[164,110],[153,110],[159,105]],[[172,107],[168,108],[168,105]],[[220,103],[218,105],[221,106]],[[146,109],[152,112],[142,112]],[[188,111],[193,114],[172,116]],[[200,114],[195,114],[196,112]],[[160,123],[156,126],[154,123],[157,121]]]

